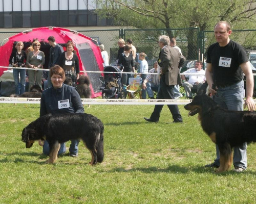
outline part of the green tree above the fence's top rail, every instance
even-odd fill
[[[219,20],[254,29],[256,20],[256,0],[98,0],[98,6],[97,12],[114,18],[116,24],[140,29],[199,27],[204,31]]]

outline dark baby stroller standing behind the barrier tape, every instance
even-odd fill
[[[121,66],[121,65],[118,65]],[[100,77],[102,98],[124,98],[122,89],[121,70],[118,66],[105,66],[103,71],[118,73],[103,73],[104,77]],[[123,67],[121,66],[121,69]]]

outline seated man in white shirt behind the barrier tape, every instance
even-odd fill
[[[197,89],[197,91],[201,88],[205,81],[205,70],[202,69],[203,67],[203,62],[198,60],[195,64],[195,68],[193,69],[188,69],[184,71],[183,73],[185,75],[181,75],[181,79],[183,82],[183,87],[186,92],[186,97],[189,99],[192,99],[192,92],[191,89]],[[186,74],[202,74],[202,75],[186,75]],[[188,82],[186,81],[186,78],[188,78]]]

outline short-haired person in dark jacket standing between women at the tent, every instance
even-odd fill
[[[55,42],[54,36],[49,36],[47,40],[49,41],[49,45],[51,45],[50,58],[49,58],[49,64],[48,64],[48,68],[50,69],[51,67],[53,67],[55,64],[58,63],[59,57],[61,53],[64,52],[64,50],[61,45]],[[48,72],[48,77],[49,77],[49,72]],[[47,78],[47,85],[48,87],[52,86],[51,79]]]

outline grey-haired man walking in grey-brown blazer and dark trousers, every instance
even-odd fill
[[[177,49],[169,46],[170,39],[168,36],[162,35],[158,39],[161,52],[159,54],[158,64],[161,67],[160,90],[157,94],[158,99],[174,99],[174,86],[182,85],[179,67],[185,61],[185,58]],[[178,105],[167,105],[173,115],[173,122],[182,122],[182,117]],[[144,119],[148,122],[158,122],[163,105],[155,105],[155,109],[150,118]]]

